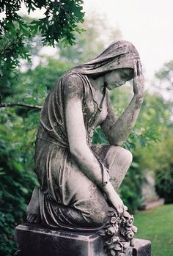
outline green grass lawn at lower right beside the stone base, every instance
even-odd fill
[[[135,214],[136,238],[152,242],[152,256],[173,256],[173,205]]]

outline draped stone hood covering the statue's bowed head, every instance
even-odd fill
[[[135,46],[125,40],[117,40],[108,45],[108,47],[95,59],[75,67],[73,70],[78,73],[84,73],[91,76],[106,76],[114,70],[114,74],[130,80],[133,78],[133,67],[135,60],[140,59]],[[118,70],[116,72],[116,70]],[[126,80],[126,81],[127,81]]]

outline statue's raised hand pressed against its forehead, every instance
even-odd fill
[[[137,59],[134,63],[133,92],[139,97],[144,97],[144,76],[140,59]]]

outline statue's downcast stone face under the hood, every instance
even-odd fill
[[[112,70],[105,75],[105,85],[108,89],[114,89],[125,84],[126,81],[133,78],[132,68],[119,68]]]

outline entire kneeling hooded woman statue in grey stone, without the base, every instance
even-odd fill
[[[117,118],[108,97],[133,79],[133,98]],[[108,208],[121,215],[117,194],[132,155],[122,148],[144,97],[144,76],[132,43],[115,41],[95,59],[73,67],[48,94],[40,116],[35,148],[34,189],[27,220],[47,227],[98,229]],[[109,145],[92,145],[100,125]]]

